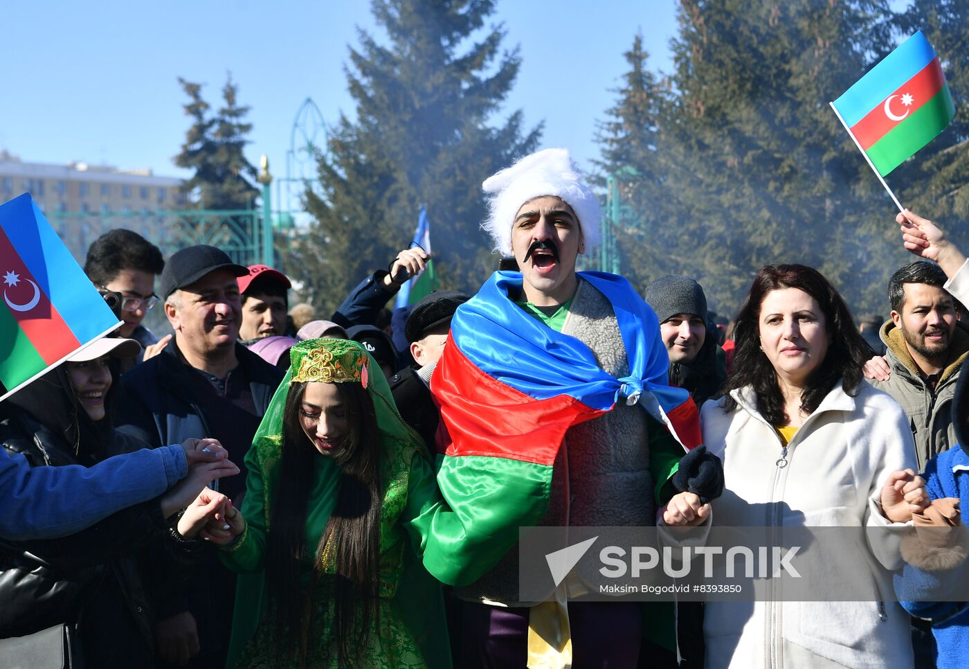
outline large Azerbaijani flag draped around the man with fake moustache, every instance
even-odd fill
[[[578,272],[610,301],[629,375],[610,376],[592,350],[526,313],[508,296],[521,273],[498,271],[457,308],[431,392],[441,408],[437,482],[464,532],[451,550],[428,544],[424,563],[452,585],[474,581],[545,515],[552,467],[569,428],[638,403],[683,452],[701,443],[690,394],[669,385],[656,314],[625,278]],[[674,454],[678,462],[682,452]],[[644,491],[643,494],[650,494]]]

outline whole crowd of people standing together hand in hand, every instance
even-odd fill
[[[518,583],[519,527],[961,525],[969,269],[939,227],[898,214],[920,260],[884,323],[774,265],[725,334],[692,277],[576,271],[601,212],[565,149],[484,189],[516,271],[392,313],[420,248],[324,319],[221,249],[97,239],[121,326],[0,402],[0,665],[965,665],[969,605],[932,600],[965,555],[865,533],[869,602]]]

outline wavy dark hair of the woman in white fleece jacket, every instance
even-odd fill
[[[770,291],[797,288],[814,298],[825,314],[828,353],[806,380],[800,410],[811,414],[821,400],[842,379],[845,392],[855,397],[862,381],[861,367],[868,360],[868,348],[855,327],[851,310],[824,274],[804,265],[768,265],[757,272],[750,292],[736,316],[734,364],[727,379],[724,409],[733,411],[736,400],[730,391],[751,386],[757,395],[757,409],[771,425],[789,423],[784,412],[784,395],[777,383],[777,372],[761,350],[761,304]]]

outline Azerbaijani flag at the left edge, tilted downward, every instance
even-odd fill
[[[120,325],[29,194],[0,206],[0,399]]]

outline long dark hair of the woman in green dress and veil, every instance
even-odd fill
[[[319,569],[327,549],[334,560],[333,638],[338,663],[353,663],[366,641],[370,622],[377,617],[380,557],[380,430],[373,400],[359,383],[336,384],[343,399],[349,430],[344,450],[334,462],[340,467],[336,503],[327,527],[314,547]],[[283,416],[279,484],[266,541],[266,583],[275,610],[278,648],[303,656],[304,625],[310,624],[312,592],[301,595],[309,549],[305,543],[307,500],[313,486],[314,459],[322,458],[299,423],[306,384],[294,384]],[[328,545],[329,544],[329,545]],[[282,645],[286,644],[286,645]]]

